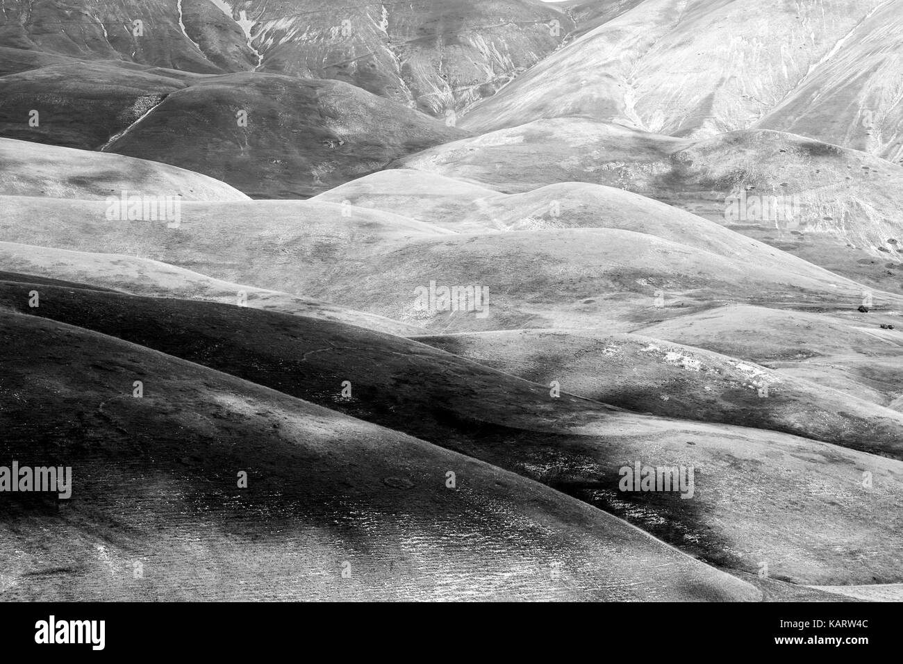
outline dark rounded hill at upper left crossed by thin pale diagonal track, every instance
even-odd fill
[[[256,198],[303,198],[468,134],[336,80],[73,61],[0,77],[0,136],[172,164]]]

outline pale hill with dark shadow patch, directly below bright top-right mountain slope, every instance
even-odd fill
[[[875,288],[903,291],[903,169],[804,136],[756,129],[681,140],[560,117],[440,145],[396,165],[505,193],[562,182],[626,189]]]

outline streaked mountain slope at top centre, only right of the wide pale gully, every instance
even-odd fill
[[[215,4],[247,13],[260,70],[344,80],[436,116],[491,96],[573,29],[554,5],[530,0]]]

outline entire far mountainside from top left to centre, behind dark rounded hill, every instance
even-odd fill
[[[4,9],[0,47],[203,74],[340,79],[436,116],[491,96],[574,27],[533,0],[5,0]]]

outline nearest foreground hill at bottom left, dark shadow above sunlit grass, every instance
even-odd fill
[[[0,448],[72,468],[65,503],[7,502],[6,599],[760,596],[619,519],[409,436],[69,325],[7,313],[0,337],[13,434]]]

